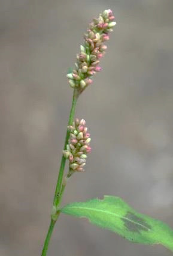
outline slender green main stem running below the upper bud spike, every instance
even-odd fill
[[[77,103],[78,96],[79,96],[78,91],[76,89],[74,89],[74,93],[73,93],[73,97],[72,97],[71,111],[69,113],[68,126],[71,126],[74,121],[75,106]],[[66,130],[65,144],[63,147],[64,150],[66,150],[66,145],[68,144],[68,140],[69,140],[69,129]],[[65,162],[66,162],[66,158],[62,155],[62,159],[60,162],[60,168],[59,168],[59,175],[57,178],[57,184],[56,184],[56,189],[54,192],[54,199],[53,199],[53,206],[56,207],[56,209],[57,209],[57,206],[59,206],[60,201],[62,200],[63,191],[65,189],[65,184],[62,184]],[[59,213],[57,212],[57,218],[58,217],[59,217]],[[41,254],[42,256],[47,255],[48,244],[50,242],[51,234],[53,232],[54,224],[56,224],[56,220],[51,219],[50,226],[47,231],[47,236],[46,236],[45,242],[44,242],[43,252]]]

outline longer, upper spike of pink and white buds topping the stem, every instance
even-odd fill
[[[69,85],[72,88],[78,88],[80,93],[92,83],[92,76],[101,71],[101,67],[98,66],[99,59],[102,58],[107,49],[104,41],[109,40],[108,34],[113,31],[112,28],[116,25],[113,20],[113,11],[105,10],[99,14],[98,19],[93,19],[87,33],[84,34],[84,45],[80,46],[75,69],[67,75]]]

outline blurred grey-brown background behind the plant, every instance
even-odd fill
[[[71,106],[66,72],[88,23],[107,8],[117,26],[76,114],[92,154],[63,204],[117,195],[173,227],[173,1],[1,0],[1,256],[41,255]],[[54,255],[172,253],[62,215]]]

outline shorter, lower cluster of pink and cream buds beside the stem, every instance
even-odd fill
[[[70,130],[69,143],[66,145],[66,150],[63,150],[63,156],[69,159],[69,174],[74,171],[84,171],[87,154],[91,151],[89,146],[91,139],[85,125],[85,120],[77,118],[73,125],[68,127]]]

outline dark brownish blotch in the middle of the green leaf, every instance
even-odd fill
[[[134,213],[128,212],[123,218],[121,218],[123,222],[125,222],[125,227],[132,232],[140,233],[143,231],[150,231],[151,226],[145,222],[144,219],[134,215]]]

